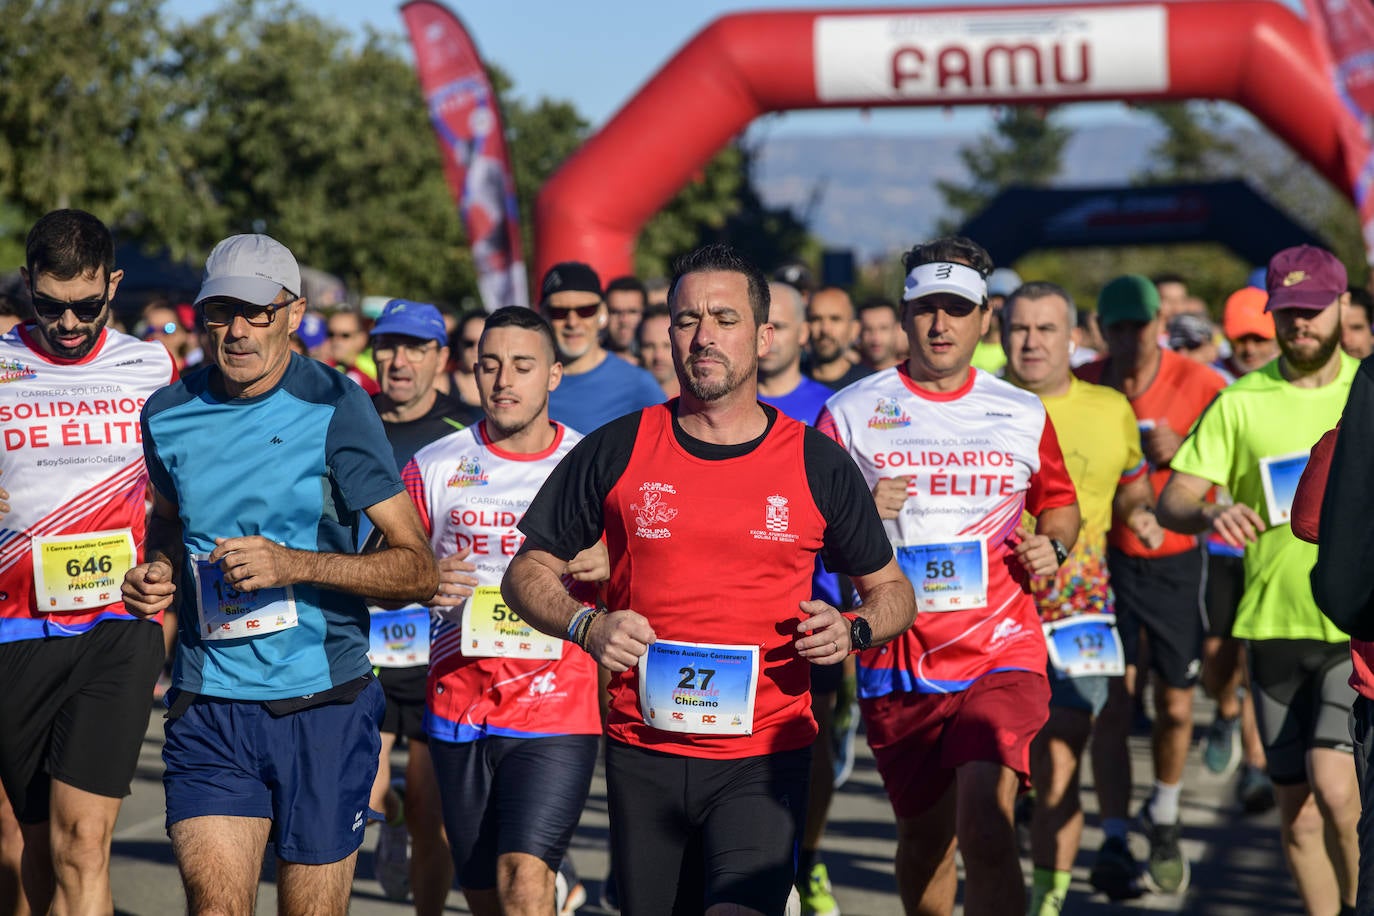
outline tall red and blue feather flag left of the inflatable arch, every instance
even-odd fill
[[[506,151],[496,92],[467,29],[440,3],[401,7],[415,48],[415,69],[444,157],[444,176],[458,202],[477,287],[488,312],[529,306],[519,239],[515,179]]]

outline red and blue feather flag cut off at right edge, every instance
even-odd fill
[[[1307,19],[1348,118],[1341,124],[1348,180],[1374,264],[1374,7],[1370,0],[1304,0]]]

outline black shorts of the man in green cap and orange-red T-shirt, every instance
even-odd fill
[[[1173,556],[1107,553],[1116,592],[1117,632],[1127,665],[1150,634],[1150,669],[1169,687],[1193,687],[1202,672],[1202,551]]]

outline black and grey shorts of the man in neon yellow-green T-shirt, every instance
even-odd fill
[[[1254,640],[1248,647],[1254,720],[1275,784],[1305,783],[1314,747],[1355,751],[1349,643]]]

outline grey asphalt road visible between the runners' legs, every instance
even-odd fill
[[[1210,717],[1210,705],[1200,702],[1198,721],[1208,722]],[[181,886],[162,825],[161,739],[161,714],[154,713],[148,720],[133,795],[126,799],[114,834],[111,871],[118,913],[166,916],[184,912]],[[1131,746],[1135,766],[1134,810],[1146,795],[1150,773],[1146,739],[1132,737]],[[1279,849],[1276,816],[1241,814],[1232,802],[1232,780],[1234,777],[1220,779],[1208,773],[1194,748],[1183,790],[1183,849],[1193,862],[1191,889],[1182,897],[1145,897],[1131,904],[1110,904],[1105,897],[1094,895],[1088,886],[1088,868],[1102,834],[1096,829],[1094,817],[1096,799],[1091,781],[1085,780],[1088,828],[1065,912],[1098,915],[1168,911],[1200,916],[1301,913],[1303,908]],[[400,916],[412,912],[407,904],[386,901],[372,880],[375,829],[368,834],[359,857],[352,912],[360,916]],[[573,839],[573,860],[589,897],[588,905],[581,909],[585,916],[602,912],[595,901],[600,878],[606,872],[606,794],[598,772],[591,799]],[[845,916],[889,916],[901,912],[892,875],[894,842],[890,809],[872,758],[860,737],[860,758],[855,775],[835,795],[823,845],[823,858]],[[1145,839],[1132,835],[1131,842],[1136,857],[1143,858],[1147,851]],[[1029,875],[1029,861],[1024,867]],[[1009,893],[1018,890],[1009,889]],[[272,913],[275,909],[276,894],[269,862],[264,868],[258,891],[258,911]],[[467,912],[459,891],[449,897],[449,911]]]

